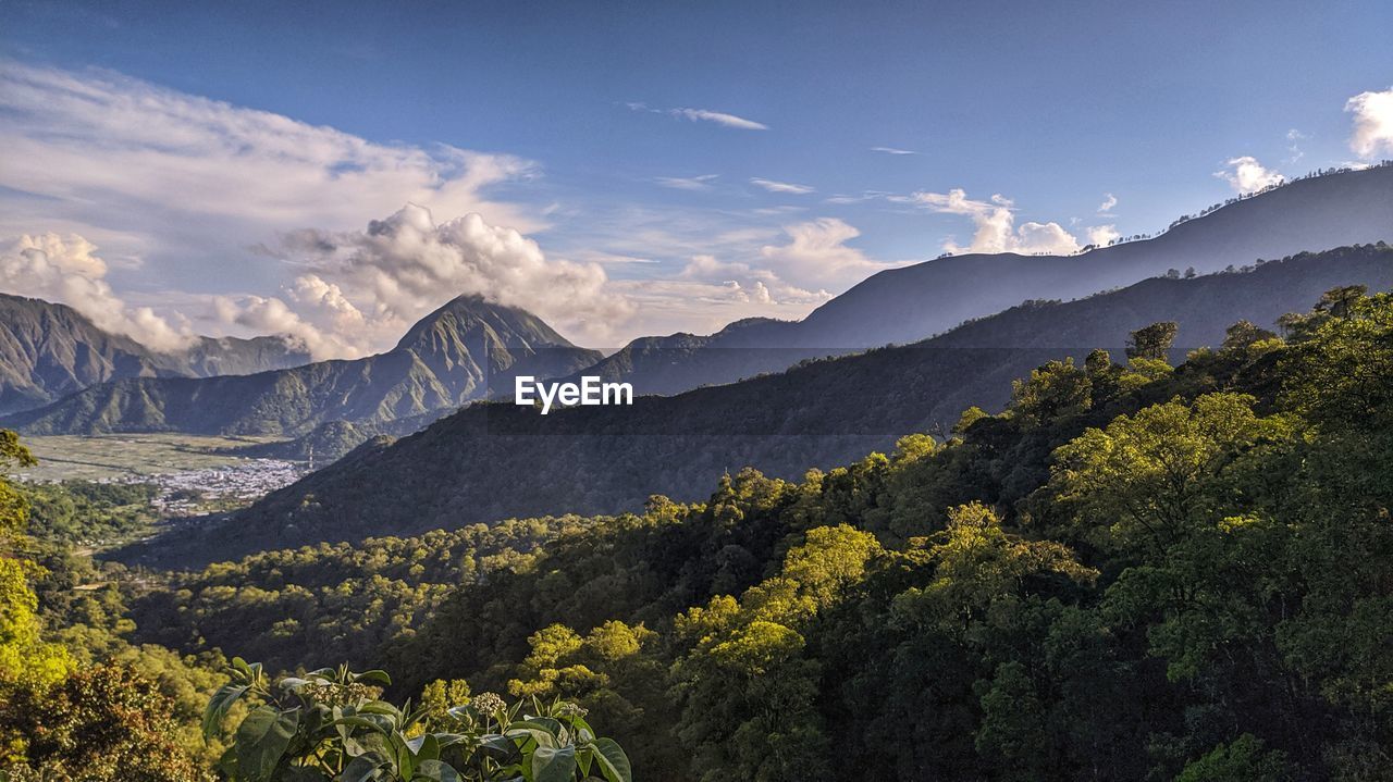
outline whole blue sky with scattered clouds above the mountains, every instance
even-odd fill
[[[170,334],[348,355],[467,285],[616,345],[797,317],[944,249],[1151,232],[1277,173],[1393,154],[1387,3],[231,6],[0,7],[0,135],[25,150],[0,161],[0,239],[56,267],[21,292],[79,299],[65,276],[98,257],[110,291],[89,306],[127,331],[149,306]],[[283,139],[332,128],[332,149],[277,182],[270,115],[302,124]],[[375,242],[404,196],[430,220]],[[456,212],[483,228],[440,235]],[[383,294],[421,282],[417,250],[462,266]]]

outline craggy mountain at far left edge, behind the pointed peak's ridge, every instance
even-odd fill
[[[0,415],[39,408],[124,377],[209,377],[302,365],[283,337],[199,337],[177,353],[98,328],[67,305],[0,294]]]

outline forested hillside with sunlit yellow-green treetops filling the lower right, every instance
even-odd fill
[[[1393,295],[1283,324],[794,481],[176,575],[131,637],[577,700],[641,779],[1382,779]]]

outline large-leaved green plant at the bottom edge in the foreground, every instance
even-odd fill
[[[203,714],[217,732],[228,708],[256,701],[219,771],[234,782],[631,782],[628,757],[566,701],[508,707],[492,693],[430,718],[411,701],[378,700],[383,671],[323,668],[272,680],[260,664],[233,660],[231,682]]]

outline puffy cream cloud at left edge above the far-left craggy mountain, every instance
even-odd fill
[[[170,323],[150,308],[128,306],[107,284],[107,264],[96,250],[77,234],[26,234],[0,250],[0,282],[6,291],[65,303],[99,328],[156,351],[188,346],[192,335],[187,319],[177,316],[177,323]]]

